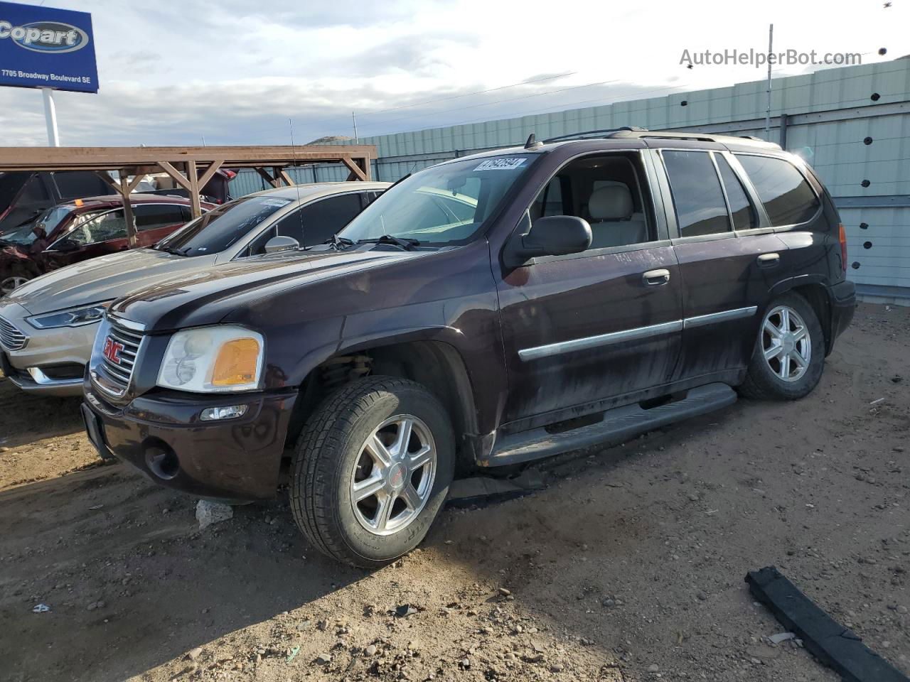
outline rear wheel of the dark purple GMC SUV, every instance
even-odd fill
[[[754,398],[796,400],[818,384],[824,368],[824,333],[818,316],[794,292],[764,313],[752,361],[740,391]]]

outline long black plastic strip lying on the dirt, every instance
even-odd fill
[[[753,597],[762,602],[804,646],[847,682],[910,682],[848,627],[837,623],[775,567],[745,577]]]

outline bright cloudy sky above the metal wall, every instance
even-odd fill
[[[352,111],[367,136],[732,85],[765,73],[683,50],[764,51],[769,23],[775,52],[910,54],[910,0],[622,5],[45,0],[95,27],[101,90],[56,94],[61,143],[288,144],[291,119],[300,144],[353,135]],[[0,145],[45,144],[40,92],[0,87]]]

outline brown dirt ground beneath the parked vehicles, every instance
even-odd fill
[[[743,577],[772,564],[910,672],[910,308],[861,306],[802,401],[546,462],[373,573],[284,496],[199,531],[77,406],[0,379],[4,680],[836,680],[766,640]]]

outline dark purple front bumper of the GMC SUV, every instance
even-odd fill
[[[157,484],[202,497],[250,501],[275,496],[294,393],[140,396],[126,406],[84,386],[89,440]],[[207,407],[247,405],[247,413],[203,422]],[[93,424],[91,420],[96,420]]]

